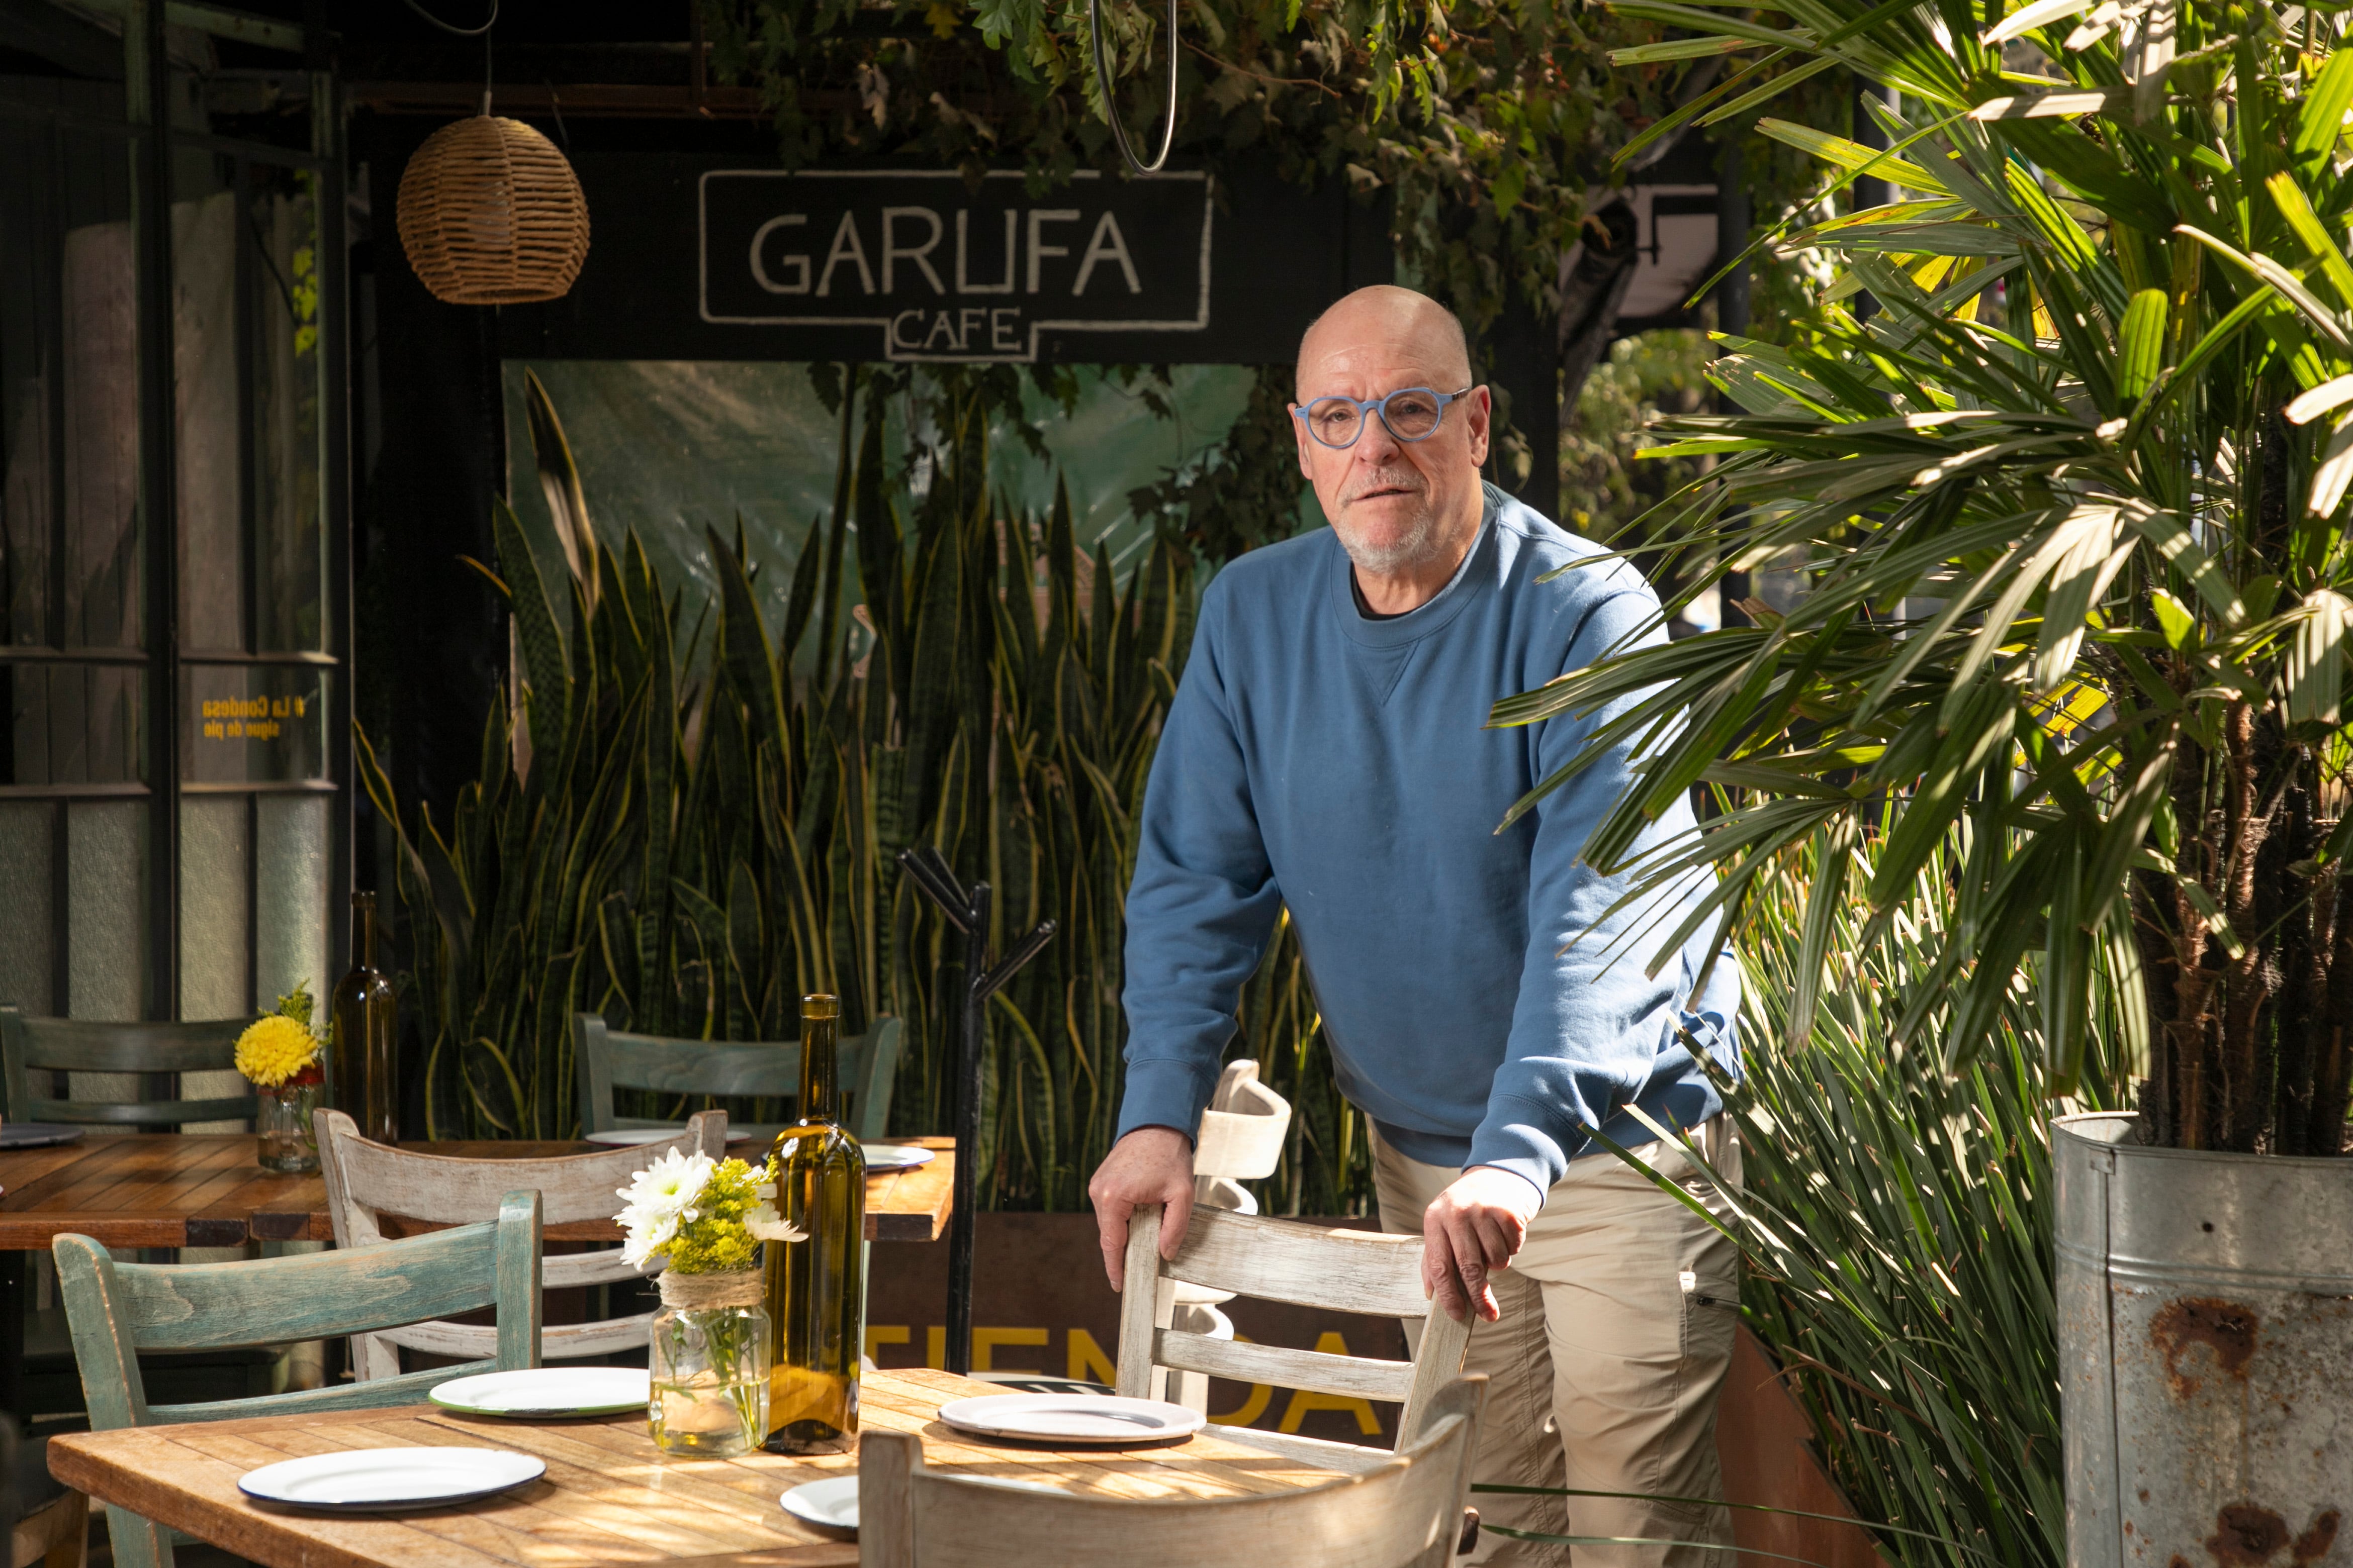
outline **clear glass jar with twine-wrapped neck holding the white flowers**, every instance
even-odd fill
[[[664,1274],[649,1326],[654,1448],[732,1460],[767,1436],[767,1309],[760,1274]]]

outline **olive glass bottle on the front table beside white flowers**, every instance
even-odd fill
[[[842,1131],[838,997],[800,999],[800,1119],[776,1133],[776,1213],[805,1241],[767,1244],[767,1448],[845,1453],[859,1432],[866,1312],[866,1154]]]

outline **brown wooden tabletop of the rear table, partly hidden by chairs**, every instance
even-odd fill
[[[936,1241],[955,1192],[955,1140],[906,1138],[936,1157],[866,1182],[868,1241]],[[588,1143],[412,1143],[461,1159],[555,1159]],[[741,1145],[748,1157],[758,1150]],[[426,1229],[426,1227],[419,1227]],[[78,1232],[106,1246],[332,1241],[327,1185],[278,1175],[249,1133],[89,1133],[47,1150],[0,1152],[0,1251],[47,1251]],[[609,1220],[548,1225],[551,1241],[619,1241]]]

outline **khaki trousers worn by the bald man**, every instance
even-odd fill
[[[1739,1182],[1739,1145],[1718,1117],[1697,1143]],[[1673,1145],[1635,1150],[1711,1213],[1725,1204]],[[1374,1138],[1381,1229],[1419,1232],[1461,1171],[1426,1166]],[[1473,1481],[1593,1493],[1722,1497],[1715,1396],[1739,1324],[1739,1251],[1609,1152],[1569,1164],[1492,1276],[1501,1321],[1471,1326],[1464,1371],[1487,1373]],[[1407,1338],[1419,1340],[1419,1324]],[[1471,1563],[1492,1568],[1732,1568],[1722,1505],[1635,1497],[1473,1493],[1480,1521],[1617,1540],[1689,1544],[1560,1547],[1480,1530]]]

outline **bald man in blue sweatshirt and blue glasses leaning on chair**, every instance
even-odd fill
[[[1332,527],[1209,583],[1153,757],[1127,891],[1127,1093],[1089,1187],[1104,1267],[1118,1288],[1136,1204],[1167,1206],[1174,1255],[1191,1133],[1287,905],[1339,1086],[1372,1128],[1381,1222],[1421,1232],[1424,1286],[1475,1316],[1478,1479],[1649,1495],[1489,1493],[1480,1514],[1581,1537],[1581,1566],[1729,1563],[1706,1500],[1734,1248],[1591,1128],[1722,1213],[1631,1107],[1694,1128],[1739,1180],[1694,1060],[1734,1067],[1739,978],[1725,959],[1699,987],[1704,940],[1657,950],[1699,889],[1619,910],[1626,879],[1579,860],[1631,778],[1624,748],[1497,832],[1600,719],[1485,729],[1499,696],[1661,642],[1659,599],[1480,482],[1489,397],[1442,306],[1346,296],[1301,341],[1297,395],[1299,468]],[[1678,806],[1649,844],[1689,827]],[[1473,1561],[1567,1559],[1482,1530]]]

